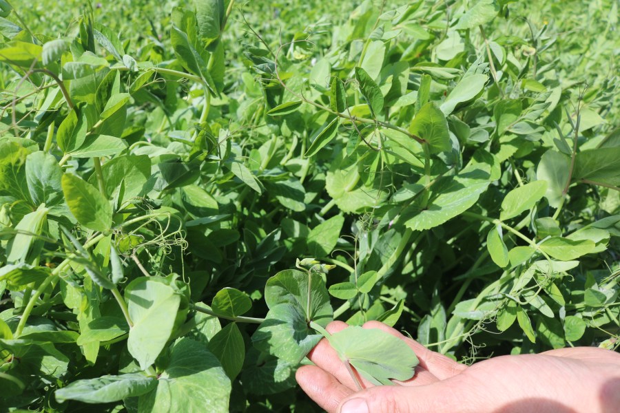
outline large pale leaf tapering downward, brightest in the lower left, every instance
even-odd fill
[[[127,349],[146,370],[172,335],[180,295],[160,278],[140,277],[125,288],[125,299],[134,323]]]

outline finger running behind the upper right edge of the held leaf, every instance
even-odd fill
[[[464,364],[458,363],[450,357],[444,356],[444,354],[428,350],[428,348],[422,346],[422,344],[409,337],[405,337],[399,331],[390,326],[386,326],[380,321],[368,321],[364,323],[364,328],[379,328],[380,330],[389,332],[394,337],[404,340],[405,343],[411,347],[413,352],[415,352],[417,359],[420,360],[420,368],[424,369],[421,371],[426,371],[430,373],[432,377],[436,377],[439,380],[453,377],[467,368]]]

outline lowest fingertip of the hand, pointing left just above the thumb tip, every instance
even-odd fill
[[[316,366],[300,367],[295,378],[302,390],[329,413],[335,412],[340,402],[353,394],[353,390]]]

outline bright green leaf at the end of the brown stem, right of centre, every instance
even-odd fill
[[[446,116],[433,102],[426,103],[420,112],[417,112],[411,120],[409,131],[426,140],[431,153],[449,151],[452,148]]]

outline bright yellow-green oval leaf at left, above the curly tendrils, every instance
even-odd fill
[[[77,176],[65,173],[63,193],[71,213],[87,229],[108,231],[112,226],[112,207],[101,192]]]

